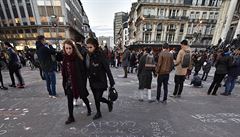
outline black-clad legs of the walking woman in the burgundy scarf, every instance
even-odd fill
[[[69,112],[69,117],[70,118],[74,118],[73,117],[73,94],[69,94],[67,95],[67,100],[68,100],[68,112]],[[90,105],[89,105],[89,100],[88,98],[82,98],[83,102],[86,104],[88,111],[91,111]]]

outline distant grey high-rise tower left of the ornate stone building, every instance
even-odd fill
[[[114,15],[114,44],[117,45],[117,41],[119,38],[119,31],[122,28],[122,24],[128,20],[128,13],[125,12],[117,12]]]

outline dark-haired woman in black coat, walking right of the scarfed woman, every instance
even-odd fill
[[[100,102],[108,105],[109,112],[112,111],[113,102],[103,97],[103,92],[107,90],[107,76],[110,81],[110,86],[113,87],[115,82],[109,68],[108,62],[100,51],[98,41],[93,38],[87,40],[87,48],[90,54],[89,61],[89,83],[93,92],[97,114],[93,117],[93,120],[102,117],[100,111]],[[106,76],[107,75],[107,76]]]

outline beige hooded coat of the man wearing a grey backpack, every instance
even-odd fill
[[[190,65],[189,68],[182,68],[182,60],[185,55],[185,51],[190,51],[190,53],[191,53],[190,47],[182,46],[182,49],[179,51],[179,53],[177,55],[177,59],[175,61],[175,65],[176,65],[175,75],[185,76],[187,74],[187,70],[191,67],[191,65]]]

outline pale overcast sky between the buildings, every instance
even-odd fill
[[[113,36],[115,12],[129,12],[137,0],[81,0],[92,30],[99,36]]]

